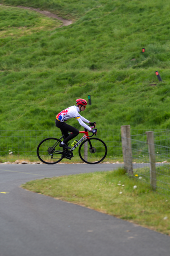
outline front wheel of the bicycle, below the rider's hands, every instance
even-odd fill
[[[79,156],[87,164],[95,165],[102,162],[108,149],[105,142],[98,138],[85,139],[79,147]]]

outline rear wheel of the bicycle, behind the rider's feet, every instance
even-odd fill
[[[57,138],[42,140],[37,147],[37,156],[41,162],[54,165],[63,159],[63,148],[59,147],[61,141]]]

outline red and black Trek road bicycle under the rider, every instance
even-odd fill
[[[108,152],[105,142],[99,138],[92,138],[94,134],[89,136],[87,129],[85,129],[85,131],[80,131],[79,133],[84,133],[84,136],[77,141],[70,150],[59,147],[64,135],[59,139],[43,139],[37,147],[37,156],[39,160],[47,165],[57,164],[64,158],[71,160],[71,158],[74,157],[73,151],[80,145],[79,156],[83,162],[91,165],[102,162]]]

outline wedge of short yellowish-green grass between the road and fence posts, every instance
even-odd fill
[[[22,187],[170,235],[170,197],[123,169],[44,178]]]

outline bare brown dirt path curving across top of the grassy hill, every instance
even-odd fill
[[[3,5],[3,4],[0,4],[0,5]],[[5,6],[5,5],[4,5]],[[8,7],[13,7],[13,6],[9,6]],[[26,6],[16,6],[18,8],[23,8],[23,9],[29,9],[31,11],[37,11],[41,14],[44,14],[46,16],[48,16],[49,18],[54,18],[54,19],[57,19],[57,20],[60,20],[62,23],[63,23],[63,26],[69,26],[70,24],[73,23],[72,20],[65,20],[61,17],[58,17],[56,14],[50,12],[50,11],[41,11],[39,8],[32,8],[32,7],[26,7]]]

